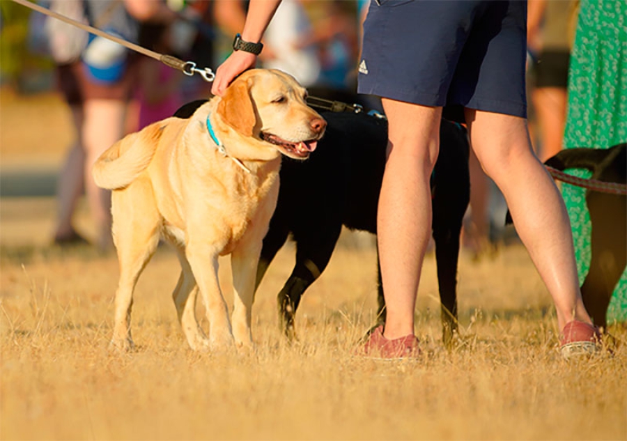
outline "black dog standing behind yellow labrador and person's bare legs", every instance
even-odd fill
[[[181,107],[188,118],[204,100]],[[327,267],[342,226],[376,233],[379,191],[385,167],[387,121],[354,112],[323,112],[327,130],[307,161],[283,158],[279,199],[263,240],[256,286],[288,235],[296,244],[296,264],[278,295],[279,320],[293,338],[300,298]],[[442,301],[444,342],[457,330],[457,266],[462,219],[470,200],[466,130],[442,120],[440,156],[431,176],[433,239]],[[378,323],[385,301],[378,287]]]

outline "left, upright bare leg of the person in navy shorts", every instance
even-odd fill
[[[378,249],[387,318],[384,336],[414,333],[422,262],[431,236],[429,179],[440,144],[440,107],[382,100],[389,121],[379,198]]]

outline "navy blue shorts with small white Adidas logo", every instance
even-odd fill
[[[358,91],[526,118],[526,52],[527,1],[372,0]]]

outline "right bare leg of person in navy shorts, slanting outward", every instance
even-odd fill
[[[525,119],[466,109],[470,144],[501,189],[516,231],[555,302],[559,329],[591,323],[582,302],[564,201],[532,150]]]

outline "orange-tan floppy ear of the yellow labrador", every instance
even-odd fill
[[[246,81],[235,81],[226,88],[217,113],[224,121],[246,137],[251,137],[256,123],[255,109]]]

